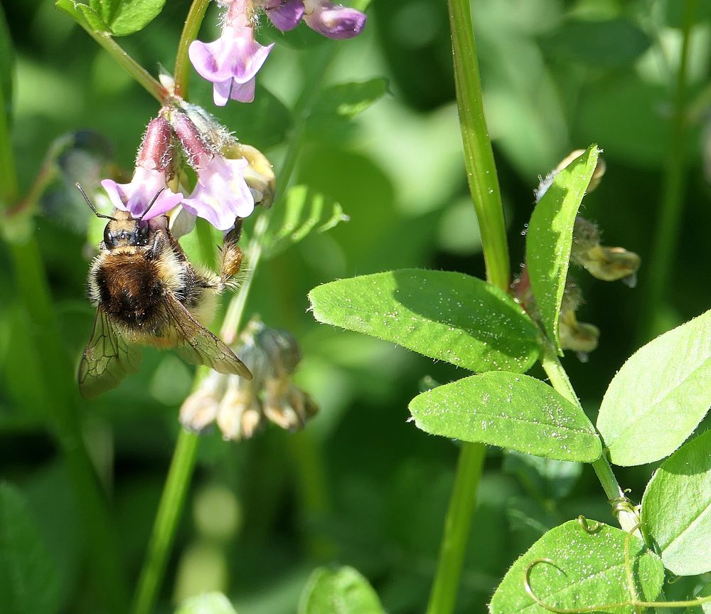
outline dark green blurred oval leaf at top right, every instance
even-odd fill
[[[557,60],[578,60],[598,69],[634,63],[651,44],[646,33],[626,19],[567,21],[541,42]]]

